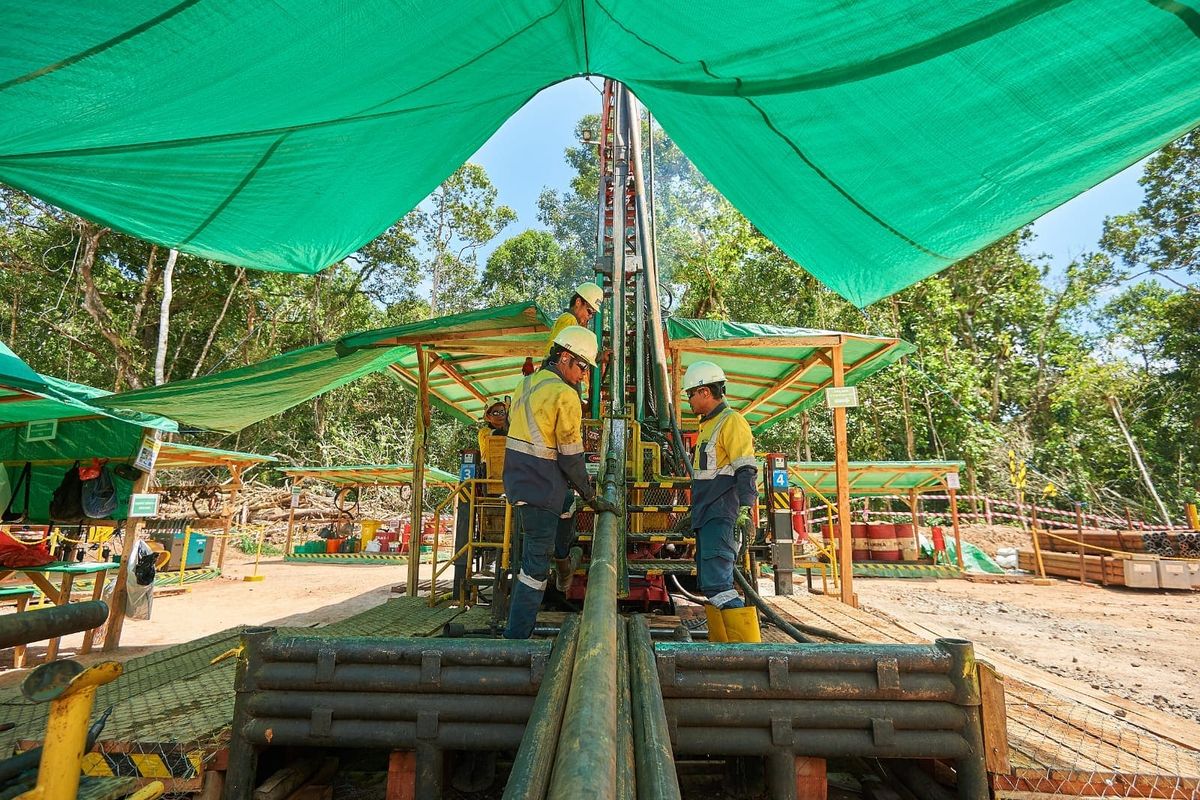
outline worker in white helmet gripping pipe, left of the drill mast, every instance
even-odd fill
[[[582,555],[575,540],[575,492],[596,513],[616,506],[596,497],[583,463],[580,381],[595,367],[595,333],[571,325],[554,337],[541,368],[526,375],[509,411],[504,493],[514,506],[521,564],[512,584],[504,637],[528,639],[550,583],[554,557],[557,588],[570,590]]]

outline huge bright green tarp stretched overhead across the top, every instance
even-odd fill
[[[541,89],[625,82],[858,305],[1200,121],[1195,0],[130,0],[0,10],[0,180],[161,245],[314,272]]]

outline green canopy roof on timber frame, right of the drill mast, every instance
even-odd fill
[[[725,371],[727,402],[755,433],[823,402],[833,385],[832,348],[842,348],[847,386],[916,350],[883,336],[679,317],[667,319],[667,338],[678,374],[697,361]],[[683,395],[677,402],[688,408]]]

